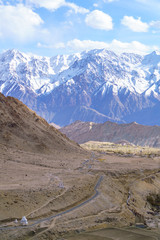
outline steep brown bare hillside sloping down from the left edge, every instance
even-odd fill
[[[22,102],[0,93],[0,144],[38,153],[82,152]]]

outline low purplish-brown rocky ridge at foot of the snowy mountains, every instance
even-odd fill
[[[160,126],[144,126],[136,122],[117,124],[107,121],[100,124],[76,121],[60,130],[78,143],[88,141],[129,142],[140,146],[160,147]]]

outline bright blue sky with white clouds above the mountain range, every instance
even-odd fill
[[[0,0],[0,52],[160,49],[159,0]]]

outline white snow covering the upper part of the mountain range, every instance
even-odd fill
[[[27,87],[41,95],[65,83],[66,87],[71,87],[68,85],[70,79],[75,82],[75,78],[83,76],[88,86],[96,86],[94,92],[102,91],[102,95],[111,86],[114,94],[122,89],[139,94],[147,90],[149,93],[148,89],[160,77],[159,63],[158,51],[143,57],[134,53],[116,55],[107,49],[93,49],[49,58],[12,49],[0,55],[0,86],[3,84],[1,91],[5,92],[11,84],[19,84],[21,88]]]

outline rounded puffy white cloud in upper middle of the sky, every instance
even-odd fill
[[[86,16],[85,22],[88,26],[101,29],[101,30],[111,30],[113,29],[112,18],[99,10],[94,10]]]

